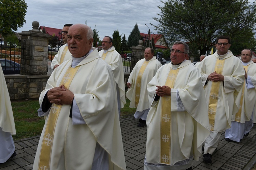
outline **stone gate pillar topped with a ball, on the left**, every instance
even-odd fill
[[[47,75],[48,38],[39,31],[39,22],[32,22],[32,30],[19,33],[22,37],[22,55],[20,74]]]

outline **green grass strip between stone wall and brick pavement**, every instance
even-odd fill
[[[39,109],[38,100],[29,101],[12,101],[13,117],[16,128],[14,140],[20,140],[41,134],[44,126],[44,118],[39,117],[37,110]],[[126,98],[126,104],[121,109],[121,116],[130,116],[136,112],[136,108],[129,108],[130,101]]]

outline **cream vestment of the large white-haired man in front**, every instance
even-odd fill
[[[126,169],[114,75],[93,49],[74,68],[72,61],[80,58],[62,63],[48,79],[40,105],[47,91],[63,82],[74,93],[74,101],[72,110],[71,105],[53,104],[48,115],[42,114],[45,125],[33,169],[100,169],[101,153],[108,160],[104,169]]]

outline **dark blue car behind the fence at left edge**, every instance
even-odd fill
[[[0,59],[1,67],[3,74],[19,74],[20,73],[20,64],[10,59]]]

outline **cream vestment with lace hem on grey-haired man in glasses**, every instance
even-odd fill
[[[173,70],[177,72],[172,73]],[[173,82],[171,96],[154,101],[156,86],[167,85],[167,81]],[[171,63],[163,65],[147,84],[147,90],[148,99],[153,102],[147,115],[144,168],[169,170],[191,167],[193,156],[198,160],[202,143],[210,134],[199,71],[186,60],[177,66]],[[162,105],[166,101],[166,105]],[[163,114],[167,109],[170,112]],[[166,151],[168,154],[164,153]]]

